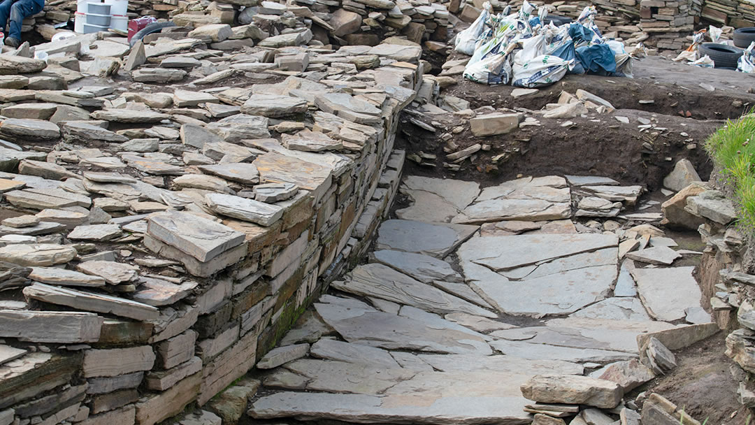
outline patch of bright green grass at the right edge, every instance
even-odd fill
[[[755,232],[755,114],[728,120],[708,137],[705,150],[734,189],[739,224]]]

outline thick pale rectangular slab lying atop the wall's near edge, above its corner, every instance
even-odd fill
[[[149,216],[147,233],[202,262],[241,245],[245,239],[243,233],[228,226],[177,211]]]

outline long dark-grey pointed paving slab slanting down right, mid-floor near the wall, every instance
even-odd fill
[[[387,350],[418,350],[434,353],[492,353],[481,337],[454,329],[437,329],[418,319],[381,313],[363,304],[353,308],[344,304],[316,303],[317,313],[345,340]]]

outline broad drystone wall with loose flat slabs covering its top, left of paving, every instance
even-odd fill
[[[364,254],[398,189],[421,48],[331,50],[300,29],[0,55],[0,424],[207,406]],[[256,387],[177,423],[220,423]]]

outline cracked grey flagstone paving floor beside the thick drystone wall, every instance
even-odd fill
[[[571,205],[585,197],[612,201],[593,217],[607,217],[614,202],[633,208],[639,186],[608,181],[526,177],[480,190],[405,177],[411,205],[382,223],[368,263],[334,282],[283,338],[316,342],[263,371],[267,391],[248,414],[530,423],[519,386],[532,375],[636,361],[637,336],[685,325],[701,294],[692,267],[673,266],[682,254],[670,239],[625,243],[663,249],[620,254],[622,242],[642,236],[572,221]]]

